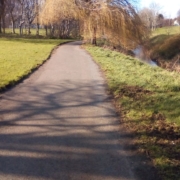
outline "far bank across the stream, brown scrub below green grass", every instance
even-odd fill
[[[160,67],[180,72],[180,26],[156,29],[145,48]]]

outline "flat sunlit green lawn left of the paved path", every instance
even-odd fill
[[[68,40],[0,38],[0,90],[41,65],[51,50]]]

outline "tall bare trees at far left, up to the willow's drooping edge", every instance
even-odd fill
[[[0,3],[0,33],[5,33],[6,28],[12,28],[12,33],[19,28],[30,34],[32,23],[36,21],[37,34],[39,34],[39,7],[42,0],[1,0]]]

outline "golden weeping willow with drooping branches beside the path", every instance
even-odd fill
[[[43,24],[72,18],[80,22],[84,40],[93,44],[101,38],[115,46],[131,48],[141,44],[147,35],[127,0],[46,0],[41,13]]]

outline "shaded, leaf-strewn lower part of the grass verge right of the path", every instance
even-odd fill
[[[151,92],[136,86],[121,87],[116,103],[121,102],[122,107],[126,107],[121,108],[123,123],[135,132],[137,146],[154,159],[161,177],[179,179],[179,89],[168,85],[170,90],[166,92],[158,89]]]

